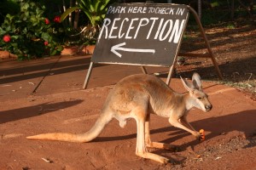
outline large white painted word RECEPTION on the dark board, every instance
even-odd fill
[[[136,39],[137,36],[142,33],[141,29],[143,26],[148,28],[148,34],[145,39],[154,37],[154,40],[160,40],[177,43],[181,37],[185,20],[165,20],[158,17],[148,18],[115,18],[110,20],[109,18],[104,19],[102,30],[99,34],[98,39],[102,38],[104,33],[105,39],[113,38],[125,38],[125,39]],[[157,29],[154,29],[156,26]],[[156,31],[154,31],[156,30]],[[133,33],[132,33],[133,32]]]

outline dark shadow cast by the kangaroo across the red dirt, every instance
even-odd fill
[[[238,113],[234,113],[232,115],[211,117],[211,118],[203,119],[200,121],[191,122],[191,125],[195,127],[195,129],[204,128],[207,132],[210,132],[206,136],[207,140],[217,137],[219,135],[222,135],[223,133],[230,133],[233,131],[245,133],[247,138],[249,138],[250,136],[252,136],[253,132],[256,132],[255,131],[256,127],[254,126],[255,120],[256,120],[255,112],[256,110],[241,111]],[[171,125],[170,127],[162,127],[162,128],[150,130],[151,134],[165,133],[165,132],[170,132],[169,135],[172,135],[172,136],[174,135],[174,137],[172,138],[168,138],[163,141],[160,141],[168,144],[172,143],[177,139],[182,139],[183,137],[191,135],[182,129],[172,127]],[[133,133],[125,136],[98,137],[94,140],[94,142],[105,142],[105,141],[125,140],[125,139],[135,139],[135,138],[137,138],[137,133]],[[188,146],[195,145],[198,143],[199,141],[195,139],[194,141],[186,144],[182,144],[179,147],[181,148],[181,150],[185,150],[185,148],[187,148]]]

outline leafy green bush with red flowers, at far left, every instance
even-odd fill
[[[7,14],[0,27],[0,47],[19,59],[32,59],[61,52],[58,39],[64,30],[59,23],[44,17],[44,6],[30,0],[20,3],[19,14]],[[9,35],[9,42],[4,41]]]

